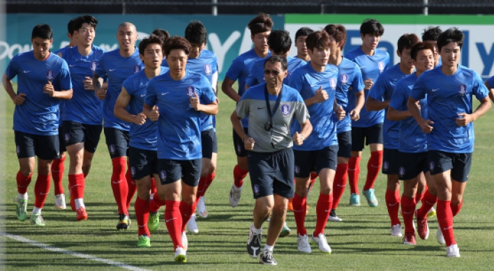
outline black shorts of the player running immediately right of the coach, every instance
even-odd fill
[[[293,150],[295,155],[295,177],[307,178],[310,171],[319,173],[322,169],[336,171],[338,164],[338,145],[329,146],[322,150]]]

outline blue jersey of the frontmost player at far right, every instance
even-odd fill
[[[442,66],[424,72],[415,83],[410,95],[421,100],[427,95],[429,119],[434,129],[427,136],[429,150],[448,153],[472,153],[474,146],[473,123],[456,125],[459,113],[472,114],[472,97],[483,100],[488,89],[479,74],[458,65],[454,75],[444,75]]]

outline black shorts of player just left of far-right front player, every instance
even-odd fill
[[[419,173],[429,171],[428,154],[398,152],[398,177],[400,180],[411,180]]]

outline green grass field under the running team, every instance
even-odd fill
[[[20,222],[15,217],[15,205],[12,199],[17,196],[15,174],[18,170],[13,139],[13,104],[2,92],[0,111],[1,148],[0,172],[0,270],[114,270],[122,266],[109,265],[91,258],[79,258],[75,252],[87,254],[93,258],[125,263],[124,268],[138,267],[147,270],[178,268],[172,261],[173,249],[167,235],[163,215],[158,232],[151,236],[151,248],[137,249],[137,225],[135,220],[128,231],[116,231],[117,206],[114,203],[110,187],[111,165],[105,140],[93,160],[91,173],[86,179],[85,203],[89,219],[77,222],[75,213],[70,210],[54,208],[53,188],[47,198],[43,217],[44,228],[31,226],[29,222]],[[232,148],[232,126],[230,114],[234,102],[220,93],[220,113],[217,118],[218,130],[218,171],[216,179],[207,191],[209,217],[197,219],[200,233],[188,234],[189,249],[187,263],[179,270],[251,270],[251,268],[283,268],[283,270],[492,270],[494,256],[494,218],[492,206],[494,175],[492,164],[494,146],[491,125],[494,110],[476,121],[477,144],[473,156],[472,171],[465,193],[465,204],[454,219],[456,240],[461,258],[446,258],[445,248],[435,241],[437,222],[431,219],[431,237],[429,240],[417,240],[417,246],[403,245],[401,238],[389,235],[389,219],[384,203],[386,178],[377,180],[375,189],[380,205],[370,208],[365,203],[360,207],[347,206],[350,196],[345,191],[338,216],[343,222],[328,222],[325,233],[333,254],[322,254],[312,245],[312,254],[297,251],[297,238],[292,234],[280,238],[274,250],[278,267],[263,267],[257,260],[246,254],[248,229],[252,222],[253,199],[248,178],[237,208],[230,207],[228,193],[232,185],[232,169],[236,157]],[[360,187],[364,184],[368,149],[365,150],[361,164]],[[66,171],[68,160],[66,161]],[[29,187],[28,212],[33,208],[33,182]],[[63,187],[68,184],[67,176]],[[67,192],[66,192],[67,194]],[[306,226],[311,232],[315,227],[315,202],[317,201],[317,183],[310,194],[308,204],[310,213]],[[68,200],[68,199],[67,199]],[[163,211],[163,208],[162,210]],[[131,208],[133,213],[133,208]],[[163,214],[163,212],[162,212]],[[133,214],[131,214],[133,219]],[[293,231],[295,224],[292,213],[287,214],[287,223]],[[263,242],[267,224],[264,226]],[[5,235],[5,233],[7,235]],[[17,238],[14,240],[13,237]],[[50,247],[36,247],[32,243],[20,242],[27,238]],[[417,237],[418,238],[418,237]],[[64,254],[63,251],[72,251]],[[3,252],[3,255],[1,255]],[[1,266],[3,265],[3,267]],[[134,269],[137,270],[137,269]]]

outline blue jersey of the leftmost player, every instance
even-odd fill
[[[53,53],[39,61],[29,51],[14,56],[5,73],[8,79],[17,76],[17,94],[26,94],[24,103],[15,106],[13,129],[28,134],[59,134],[60,100],[43,93],[43,88],[48,81],[55,91],[72,88],[67,63]]]

